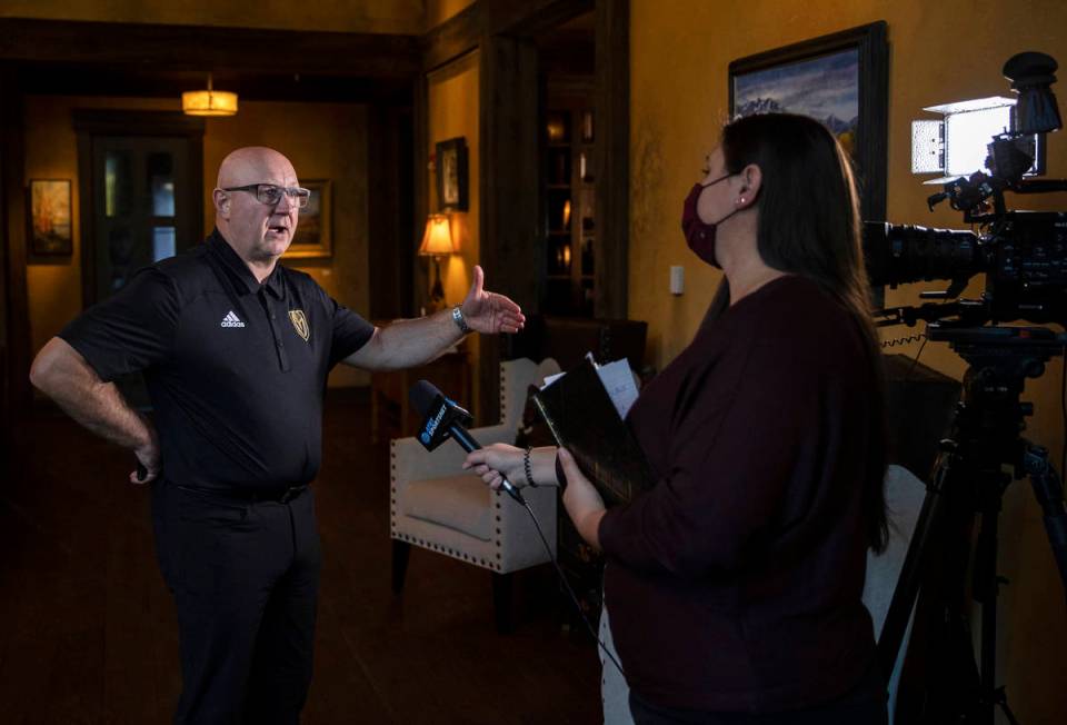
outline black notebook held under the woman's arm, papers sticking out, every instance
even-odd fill
[[[534,393],[534,403],[557,445],[569,450],[606,506],[651,488],[651,469],[619,417],[591,360]]]

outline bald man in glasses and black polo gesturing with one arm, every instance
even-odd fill
[[[30,379],[137,458],[152,484],[163,579],[178,612],[176,723],[297,723],[311,681],[320,550],[309,484],[337,362],[427,362],[467,332],[515,332],[519,307],[482,289],[376,328],[278,265],[310,191],[268,148],[219,168],[207,241],[138,272],[38,354]],[[113,380],[143,373],[151,418]]]

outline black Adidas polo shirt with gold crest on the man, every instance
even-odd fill
[[[216,229],[59,336],[102,380],[144,373],[168,480],[278,489],[318,473],[327,374],[373,329],[303,272],[259,284]]]

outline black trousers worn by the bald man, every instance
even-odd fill
[[[157,481],[152,524],[178,610],[174,723],[299,723],[321,569],[312,490],[252,503]]]

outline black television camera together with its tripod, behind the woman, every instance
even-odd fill
[[[1021,437],[1033,404],[1019,400],[1025,379],[1043,375],[1045,364],[1067,348],[1067,335],[1041,327],[1067,328],[1067,211],[1009,210],[1005,202],[1009,191],[1067,191],[1067,180],[1033,178],[1044,166],[1046,135],[1063,127],[1050,90],[1056,70],[1056,61],[1039,52],[1018,53],[1005,63],[1004,75],[1018,101],[1011,128],[988,145],[987,171],[951,180],[928,199],[931,210],[948,201],[977,232],[886,221],[864,225],[872,286],[949,280],[945,290],[920,294],[938,301],[880,310],[877,324],[925,320],[927,339],[949,342],[969,365],[878,640],[880,667],[891,673],[915,609],[914,630],[923,632],[923,644],[913,658],[913,635],[903,665],[898,722],[993,725],[997,707],[1016,722],[995,674],[996,597],[1006,582],[997,573],[997,519],[1014,479],[1030,478],[1067,588],[1063,484],[1047,449]],[[960,298],[977,274],[986,276],[979,299]],[[1001,325],[1017,320],[1038,327]],[[977,659],[965,593],[981,604]],[[924,664],[909,681],[908,664],[917,661]],[[917,683],[910,695],[909,682]]]

